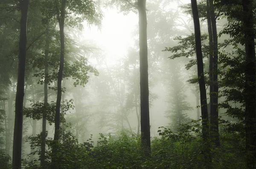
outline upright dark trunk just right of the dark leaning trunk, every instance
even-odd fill
[[[213,0],[209,0],[210,18],[212,23],[212,111],[210,112],[211,134],[215,146],[220,146],[219,129],[218,129],[218,34],[216,19],[214,13]],[[207,19],[208,20],[208,19]]]

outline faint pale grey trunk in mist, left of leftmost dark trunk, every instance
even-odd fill
[[[9,89],[9,92],[8,92],[8,117],[7,117],[6,147],[5,147],[6,155],[10,155],[10,149],[11,149],[11,140],[12,140],[11,131],[12,131],[12,125],[13,125],[12,103],[14,100],[14,90],[15,90],[15,82],[12,86],[12,90]]]

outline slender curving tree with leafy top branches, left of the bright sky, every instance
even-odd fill
[[[64,40],[64,26],[65,26],[65,18],[67,18],[74,26],[79,25],[83,20],[87,20],[89,24],[96,23],[99,25],[100,23],[100,15],[96,12],[94,2],[92,0],[88,1],[69,1],[69,0],[61,0],[59,4],[57,1],[53,3],[54,9],[56,10],[56,17],[59,23],[60,29],[60,64],[58,70],[58,81],[57,81],[57,100],[56,100],[56,112],[55,112],[55,133],[54,133],[54,142],[52,146],[52,168],[58,168],[58,164],[56,163],[56,153],[58,149],[58,140],[60,133],[60,108],[61,108],[61,81],[63,78],[63,70],[64,70],[64,54],[65,54],[65,40]],[[59,6],[61,6],[59,8]],[[67,13],[68,11],[73,11],[76,14],[80,14],[81,17],[75,17],[73,20],[70,17],[72,12]]]

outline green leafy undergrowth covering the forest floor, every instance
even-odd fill
[[[145,157],[140,136],[121,132],[119,135],[100,134],[96,143],[91,137],[78,143],[68,130],[61,131],[57,162],[60,169],[206,169],[204,166],[204,143],[200,125],[182,125],[178,132],[160,127],[158,137],[151,139],[151,156]],[[211,148],[212,169],[245,168],[244,139],[236,132],[221,130],[221,147]],[[28,137],[35,150],[23,159],[23,169],[41,169],[41,135]],[[52,139],[47,138],[46,169],[51,166]],[[3,169],[10,168],[10,158],[0,154]],[[209,166],[208,166],[209,168]]]

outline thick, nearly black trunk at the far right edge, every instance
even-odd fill
[[[256,59],[253,32],[253,0],[242,0],[245,39],[245,132],[247,169],[256,168]]]

